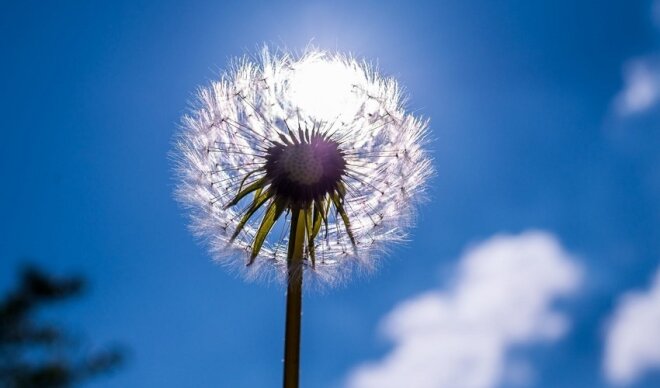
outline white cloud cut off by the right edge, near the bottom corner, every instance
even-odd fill
[[[604,366],[610,382],[627,385],[650,369],[660,369],[660,270],[647,292],[621,298],[606,340]]]

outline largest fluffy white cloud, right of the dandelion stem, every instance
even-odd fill
[[[573,292],[580,271],[557,240],[543,232],[496,236],[460,259],[451,291],[429,291],[404,301],[383,320],[394,348],[363,364],[347,385],[387,387],[492,387],[533,377],[507,351],[555,340],[568,328],[553,309]]]

